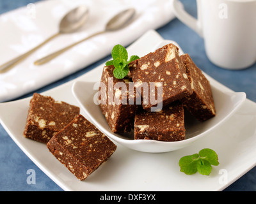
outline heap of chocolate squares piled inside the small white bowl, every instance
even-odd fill
[[[132,61],[124,79],[115,78],[113,69],[103,69],[106,103],[99,105],[113,133],[134,128],[135,140],[174,142],[186,138],[184,107],[200,121],[216,115],[209,81],[191,57],[179,55],[173,44]]]

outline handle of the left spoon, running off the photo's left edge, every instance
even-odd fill
[[[19,62],[21,62],[22,60],[24,60],[26,57],[28,57],[28,55],[32,54],[33,52],[35,52],[35,50],[37,50],[38,48],[42,47],[43,45],[45,45],[45,43],[47,43],[48,41],[52,40],[53,38],[55,38],[56,36],[58,36],[60,33],[56,33],[54,35],[52,35],[51,37],[47,38],[47,40],[43,41],[42,43],[40,43],[39,45],[37,45],[35,48],[29,50],[28,52],[19,55],[18,57],[15,57],[14,59],[5,62],[4,64],[2,64],[0,66],[0,73],[4,73],[8,70],[10,70],[11,68],[13,68],[16,64],[18,64]]]

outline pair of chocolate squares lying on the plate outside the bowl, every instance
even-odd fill
[[[115,152],[116,145],[80,114],[80,108],[33,94],[24,137],[47,144],[79,180],[86,179]]]

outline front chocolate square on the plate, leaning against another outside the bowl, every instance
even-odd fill
[[[116,145],[83,115],[54,135],[47,147],[79,180],[86,179],[116,150]]]

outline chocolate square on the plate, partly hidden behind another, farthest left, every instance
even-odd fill
[[[77,117],[79,112],[80,108],[77,106],[35,93],[29,103],[24,137],[47,143]]]

